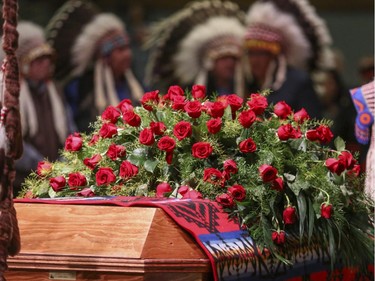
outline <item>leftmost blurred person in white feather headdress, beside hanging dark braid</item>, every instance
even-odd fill
[[[33,22],[21,21],[17,31],[24,151],[15,163],[15,196],[39,161],[57,160],[66,137],[75,130],[62,89],[52,78],[55,53],[45,40],[44,30]]]

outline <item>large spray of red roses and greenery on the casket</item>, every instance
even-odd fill
[[[92,134],[67,138],[64,161],[40,162],[22,196],[208,198],[284,262],[292,242],[319,241],[333,263],[372,263],[373,203],[355,157],[339,138],[326,146],[327,120],[267,94],[208,99],[194,85],[123,100]]]

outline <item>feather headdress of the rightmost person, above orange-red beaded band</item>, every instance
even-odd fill
[[[277,34],[287,62],[308,71],[334,66],[331,36],[324,21],[306,0],[258,0],[247,14],[246,39]]]

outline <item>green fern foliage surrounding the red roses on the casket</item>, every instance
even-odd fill
[[[185,98],[194,100],[190,92],[186,93]],[[264,113],[257,114],[251,126],[245,128],[239,116],[243,111],[252,110],[252,98],[233,112],[228,100],[219,97],[218,100],[225,105],[225,111],[219,117],[210,114],[209,101],[202,100],[200,117],[192,118],[186,111],[174,109],[173,100],[158,96],[157,100],[155,98],[148,103],[152,106],[151,111],[143,107],[133,109],[140,117],[139,126],[130,125],[123,118],[124,112],[115,109],[120,116],[112,124],[116,127],[113,136],[101,135],[97,142],[90,144],[93,136],[100,135],[103,126],[110,123],[102,115],[92,124],[92,134],[79,135],[81,148],[61,151],[64,161],[47,163],[50,165],[48,169],[38,169],[27,178],[23,197],[82,196],[80,192],[84,190],[90,191],[85,194],[97,196],[155,196],[160,183],[168,183],[174,189],[174,192],[167,194],[181,197],[183,195],[179,194],[179,188],[187,186],[202,197],[222,204],[231,219],[249,230],[260,249],[267,248],[287,264],[291,263],[288,258],[293,248],[288,249],[286,245],[292,241],[297,246],[319,241],[329,252],[332,265],[338,261],[347,265],[371,264],[373,240],[369,231],[372,229],[373,202],[362,192],[363,177],[355,175],[355,165],[348,164],[341,173],[327,167],[327,159],[339,159],[342,152],[347,152],[342,139],[335,140],[334,150],[322,145],[324,136],[319,135],[317,139],[308,137],[311,130],[328,126],[330,121],[307,118],[300,122],[294,118],[294,112],[280,118],[269,106]],[[233,113],[236,114],[235,118]],[[207,122],[213,118],[220,118],[222,122],[216,134],[210,133],[207,128]],[[192,133],[178,140],[174,129],[180,121],[189,122]],[[145,145],[140,142],[139,135],[145,128],[150,128],[151,122],[162,122],[166,130],[163,135],[154,133],[155,142]],[[281,140],[278,130],[285,125],[291,125],[296,135]],[[169,136],[176,143],[170,163],[166,159],[167,153],[158,148],[162,136]],[[240,149],[240,143],[249,138],[256,144],[256,149],[244,152]],[[209,143],[212,153],[203,158],[194,157],[192,147],[199,142]],[[124,146],[126,155],[116,159],[108,157],[111,144]],[[83,161],[94,155],[100,155],[101,159],[95,167],[90,168]],[[234,161],[235,172],[225,170],[227,160]],[[124,161],[137,167],[137,173],[129,178],[120,175]],[[355,160],[352,161],[354,163]],[[275,178],[267,181],[262,177],[259,170],[262,165],[276,169],[277,178],[282,180],[281,186],[275,185]],[[115,180],[98,185],[97,176],[101,168],[111,168]],[[204,178],[208,168],[222,173],[218,181],[211,177]],[[86,179],[85,185],[71,186],[69,183],[71,174],[77,172]],[[54,190],[50,181],[59,176],[66,183]],[[231,193],[230,189],[235,185],[244,188],[244,198],[236,198]],[[223,195],[229,203],[218,199]],[[322,204],[332,205],[333,212],[328,217],[322,216]],[[296,208],[296,221],[292,224],[286,224],[283,216],[288,206]],[[275,231],[285,231],[285,245],[272,240]],[[297,239],[293,240],[292,237]]]

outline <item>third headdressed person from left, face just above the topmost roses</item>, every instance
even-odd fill
[[[204,85],[207,94],[243,96],[244,19],[233,2],[195,1],[152,27],[147,86]]]

